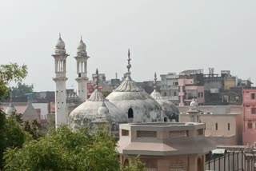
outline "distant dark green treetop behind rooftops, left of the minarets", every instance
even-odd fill
[[[18,82],[18,85],[12,87],[12,95],[14,97],[25,96],[26,93],[33,93],[34,85],[26,85],[25,83]]]

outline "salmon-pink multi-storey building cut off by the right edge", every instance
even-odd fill
[[[256,89],[243,89],[243,145],[256,142]]]

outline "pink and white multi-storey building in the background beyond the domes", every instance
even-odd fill
[[[190,105],[192,99],[196,98],[199,105],[205,102],[205,87],[202,70],[185,70],[179,74],[179,105]]]

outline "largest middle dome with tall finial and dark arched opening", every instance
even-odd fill
[[[130,51],[127,77],[106,99],[126,112],[129,122],[162,121],[162,108],[144,89],[130,78]]]

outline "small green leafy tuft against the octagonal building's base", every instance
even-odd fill
[[[129,165],[123,166],[122,171],[141,171],[145,170],[145,164],[138,157],[130,157]]]

